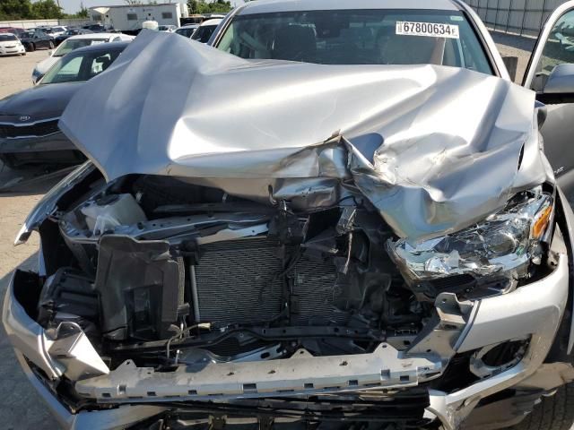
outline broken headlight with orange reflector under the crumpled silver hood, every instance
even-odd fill
[[[502,211],[470,228],[413,245],[389,240],[388,251],[404,276],[415,282],[502,273],[517,280],[526,276],[531,262],[540,263],[552,203],[552,194],[539,186],[517,193]]]

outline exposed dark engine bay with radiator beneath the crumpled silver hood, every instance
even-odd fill
[[[434,308],[404,288],[392,232],[358,196],[301,211],[170,177],[98,185],[40,229],[57,225],[69,262],[39,323],[78,323],[111,368],[404,349]]]

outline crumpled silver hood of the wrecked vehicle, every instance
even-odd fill
[[[464,69],[248,61],[143,31],[60,128],[108,180],[186,176],[309,205],[358,189],[419,240],[552,177],[534,107],[532,91]]]

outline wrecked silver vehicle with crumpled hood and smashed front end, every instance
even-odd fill
[[[4,328],[58,421],[570,427],[565,13],[526,88],[457,0],[248,2],[216,49],[143,30],[16,237],[39,271]]]

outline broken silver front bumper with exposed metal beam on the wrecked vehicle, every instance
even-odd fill
[[[127,405],[134,403],[134,398],[137,398],[138,403],[153,402],[157,405],[162,401],[174,401],[174,396],[177,396],[178,401],[206,398],[213,400],[213,395],[223,400],[234,397],[246,398],[251,395],[256,397],[305,395],[317,390],[361,391],[370,390],[373,386],[377,389],[397,388],[424,383],[433,377],[432,374],[437,377],[444,370],[436,355],[408,356],[390,346],[385,353],[378,348],[369,355],[370,357],[363,356],[363,366],[360,363],[361,356],[346,356],[344,365],[340,357],[300,357],[278,360],[275,363],[265,361],[206,366],[205,369],[209,370],[206,373],[177,371],[170,374],[154,374],[152,369],[139,368],[126,361],[109,374],[84,379],[75,385],[76,391],[83,393],[85,398],[97,400],[102,404],[120,406],[117,409],[73,414],[57,400],[53,391],[49,390],[36,374],[30,372],[30,366],[23,359],[26,357],[53,381],[57,381],[65,373],[65,366],[50,357],[48,353],[49,337],[16,299],[17,296],[22,297],[15,294],[15,291],[22,289],[22,286],[14,281],[16,279],[14,276],[4,299],[4,328],[20,357],[24,370],[29,374],[30,381],[48,402],[48,406],[63,426],[68,428],[78,426],[79,422],[86,428],[116,428],[116,421],[109,421],[110,417],[114,420],[124,419],[125,423],[125,420],[152,417],[163,410],[156,406],[149,407],[156,409],[147,409],[145,405],[137,407]],[[507,340],[529,338],[526,354],[516,366],[493,374],[462,390],[430,391],[431,406],[427,409],[428,417],[438,417],[447,429],[457,428],[479,400],[515,386],[535,374],[551,348],[561,323],[568,294],[568,256],[562,244],[555,269],[548,276],[517,288],[509,294],[475,301],[468,321],[461,331],[462,334],[454,345],[455,351],[462,353]],[[443,335],[440,332],[436,334]],[[376,353],[380,353],[379,356],[375,356]],[[357,363],[353,360],[357,360]],[[341,372],[329,375],[329,366],[334,364],[331,361],[336,362]],[[367,368],[369,366],[364,364],[369,361],[370,368]],[[282,370],[290,369],[291,374],[283,374]],[[276,374],[272,371],[278,370],[282,377],[272,378],[272,381],[270,378]],[[320,380],[319,376],[327,376],[327,379]],[[283,391],[285,389],[289,390],[288,393]],[[126,407],[130,409],[124,409]]]

